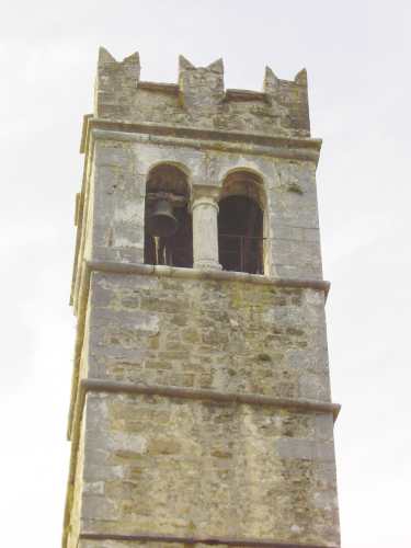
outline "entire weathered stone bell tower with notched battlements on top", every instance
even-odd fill
[[[100,50],[64,548],[339,547],[307,76]]]

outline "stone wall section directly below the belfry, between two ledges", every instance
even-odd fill
[[[323,293],[95,273],[89,375],[330,400]]]

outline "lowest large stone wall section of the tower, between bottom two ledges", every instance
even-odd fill
[[[338,543],[331,415],[101,393],[85,416],[83,532]]]

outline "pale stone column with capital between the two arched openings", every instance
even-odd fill
[[[221,270],[218,262],[218,193],[215,186],[193,189],[193,253],[194,269]]]

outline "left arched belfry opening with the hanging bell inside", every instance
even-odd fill
[[[145,263],[193,267],[193,230],[186,174],[160,164],[147,179]]]

